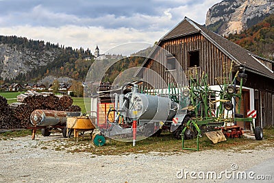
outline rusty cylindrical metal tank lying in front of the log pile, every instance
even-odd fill
[[[34,110],[30,121],[35,126],[65,125],[66,112],[58,110]]]

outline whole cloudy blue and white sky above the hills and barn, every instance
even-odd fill
[[[221,0],[0,0],[0,35],[22,36],[101,53],[153,42],[184,19],[204,24]]]

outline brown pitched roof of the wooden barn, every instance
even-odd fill
[[[174,38],[179,38],[182,36],[188,36],[191,34],[200,33],[205,36],[213,45],[218,47],[226,56],[228,56],[231,60],[234,60],[236,64],[245,66],[247,71],[251,71],[253,73],[257,73],[259,75],[264,75],[266,77],[270,77],[274,80],[274,73],[271,69],[267,68],[260,60],[264,60],[266,62],[272,62],[272,60],[268,60],[266,58],[261,58],[251,53],[247,49],[236,45],[234,42],[223,38],[219,34],[216,34],[206,27],[195,23],[194,21],[185,17],[180,23],[178,23],[171,31],[166,33],[158,42],[158,46],[161,45],[161,42],[165,40],[171,40]],[[147,59],[148,60],[148,59]],[[145,62],[147,62],[145,60]],[[143,65],[145,65],[145,62]]]

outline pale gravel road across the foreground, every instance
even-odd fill
[[[226,178],[222,171],[231,171],[233,175],[269,160],[273,162],[274,158],[274,149],[271,148],[186,151],[173,155],[150,152],[117,156],[95,156],[43,148],[42,143],[55,143],[53,140],[58,138],[60,136],[54,135],[37,135],[34,141],[31,136],[2,138],[0,182],[227,182],[233,177],[229,178],[227,174]],[[271,166],[273,180],[274,167]],[[222,178],[211,178],[212,171],[216,172],[217,177],[222,175]],[[190,172],[194,172],[192,178]],[[246,182],[251,180],[247,178]]]

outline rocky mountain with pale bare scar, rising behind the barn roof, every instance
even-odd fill
[[[273,0],[225,0],[206,14],[206,27],[222,36],[240,33],[274,14]]]

